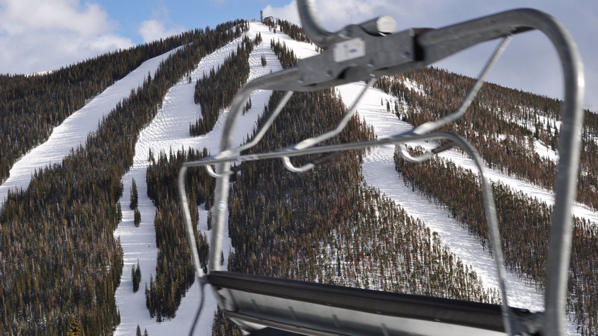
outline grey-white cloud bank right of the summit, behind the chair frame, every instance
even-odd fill
[[[593,33],[598,2],[579,2],[570,6],[560,1],[541,0],[316,0],[316,15],[321,25],[329,31],[337,31],[350,23],[361,23],[380,15],[393,17],[397,29],[431,27],[439,28],[453,23],[487,16],[500,11],[520,7],[532,7],[557,17],[575,38],[586,77],[585,103],[598,105],[598,44]],[[300,23],[295,0],[281,7],[267,5],[264,16],[274,16]],[[580,20],[579,18],[586,20]],[[590,19],[588,19],[590,18]],[[435,65],[449,71],[477,76],[496,42],[471,48]],[[560,63],[553,46],[541,33],[516,35],[502,59],[496,64],[489,80],[507,87],[521,88],[551,97],[563,96]]]

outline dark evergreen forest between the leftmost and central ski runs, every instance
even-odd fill
[[[242,29],[228,22],[190,34],[193,43],[118,104],[85,147],[36,172],[28,190],[9,194],[0,210],[0,334],[63,335],[71,320],[87,335],[111,334],[120,320],[114,291],[123,265],[112,233],[136,136],[168,88]]]

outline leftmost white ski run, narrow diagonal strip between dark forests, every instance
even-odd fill
[[[110,85],[102,93],[94,97],[83,108],[74,112],[59,126],[54,127],[50,138],[41,145],[33,148],[10,169],[10,176],[0,185],[0,206],[4,203],[8,190],[27,189],[31,176],[35,170],[45,166],[62,163],[62,159],[77,149],[86,145],[87,135],[97,130],[102,117],[109,114],[118,102],[129,97],[131,90],[139,87],[148,72],[155,75],[160,62],[174,53],[178,48],[142,63],[121,80]]]

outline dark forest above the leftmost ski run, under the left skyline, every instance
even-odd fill
[[[91,97],[145,60],[195,41],[191,30],[160,41],[103,54],[44,75],[0,75],[0,182],[15,161],[44,142],[52,129]]]

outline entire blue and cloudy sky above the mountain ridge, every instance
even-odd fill
[[[585,105],[598,111],[598,1],[595,0],[316,0],[329,30],[388,14],[398,29],[438,28],[512,8],[557,17],[575,38],[585,63]],[[298,23],[292,0],[0,0],[0,73],[47,71],[188,29],[265,15]],[[495,42],[437,64],[475,77]],[[538,32],[515,36],[489,81],[551,97],[562,96],[553,47]]]

